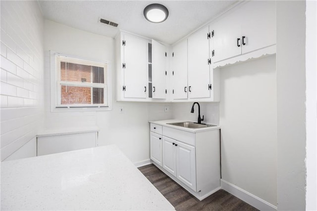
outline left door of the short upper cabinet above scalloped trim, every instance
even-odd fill
[[[239,14],[239,16],[244,13]],[[241,54],[241,24],[235,14],[228,14],[212,24],[213,48],[211,57],[213,62],[218,62]],[[213,51],[213,53],[212,53]]]

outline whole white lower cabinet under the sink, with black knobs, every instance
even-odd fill
[[[219,129],[189,132],[151,123],[150,154],[153,164],[199,200],[220,189]]]

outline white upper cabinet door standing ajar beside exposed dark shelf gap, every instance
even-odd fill
[[[166,99],[166,47],[152,40],[152,98]]]

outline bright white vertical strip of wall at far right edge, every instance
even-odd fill
[[[317,211],[317,1],[306,1],[306,210]]]

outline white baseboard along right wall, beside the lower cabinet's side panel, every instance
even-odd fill
[[[260,211],[276,211],[277,207],[260,199],[259,197],[227,182],[223,179],[220,179],[220,186],[223,190],[231,193],[232,195],[236,196],[237,198],[245,201],[249,205],[259,209]]]

